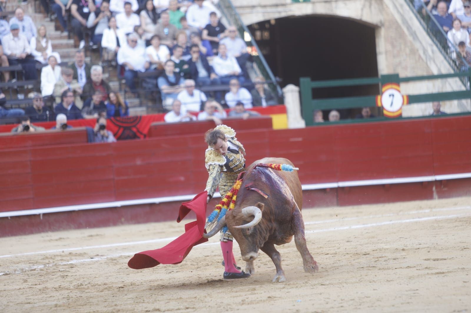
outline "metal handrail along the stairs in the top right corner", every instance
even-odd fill
[[[464,60],[463,55],[461,55],[457,47],[448,39],[447,34],[430,13],[423,1],[418,3],[415,0],[406,0],[406,3],[453,71],[455,73],[467,72],[470,66],[466,63],[466,60]],[[469,88],[467,77],[460,77],[460,80],[464,86]]]

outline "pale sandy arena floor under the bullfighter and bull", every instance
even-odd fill
[[[471,198],[303,216],[319,273],[303,272],[292,241],[278,247],[283,283],[263,252],[255,275],[222,280],[217,238],[179,265],[127,266],[184,223],[0,238],[0,312],[471,312]]]

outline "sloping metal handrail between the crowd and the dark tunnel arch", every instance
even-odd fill
[[[249,29],[247,28],[247,26],[245,26],[245,24],[242,22],[242,18],[240,17],[239,13],[237,13],[237,10],[232,4],[232,1],[231,0],[219,0],[217,6],[219,10],[221,11],[221,13],[223,14],[223,16],[226,18],[226,20],[237,28],[241,38],[244,38],[244,32],[250,35],[250,42],[247,43],[247,46],[253,47],[255,51],[257,51],[257,55],[252,54],[252,57],[254,59],[254,62],[257,64],[257,70],[259,74],[263,76],[265,80],[270,80],[274,82],[274,84],[270,86],[270,89],[272,89],[272,91],[275,92],[279,97],[282,97],[283,93],[281,91],[281,87],[277,83],[275,75],[273,75],[273,72],[270,70],[270,67],[268,66],[267,61],[265,60],[263,55],[260,53],[259,46],[253,39],[253,36],[251,32],[249,31]]]

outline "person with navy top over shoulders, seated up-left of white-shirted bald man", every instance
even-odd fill
[[[175,63],[168,60],[164,65],[165,71],[157,79],[157,85],[162,93],[162,106],[170,110],[173,100],[183,90],[183,79],[180,75],[175,75]]]

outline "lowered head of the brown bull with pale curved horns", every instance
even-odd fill
[[[255,206],[247,206],[242,209],[235,208],[228,211],[226,216],[221,218],[208,234],[203,234],[203,237],[210,238],[227,225],[240,246],[244,261],[253,261],[257,258],[258,251],[265,239],[256,229],[257,224],[262,219],[263,208],[264,204],[259,202]]]

